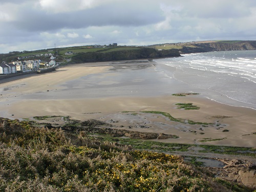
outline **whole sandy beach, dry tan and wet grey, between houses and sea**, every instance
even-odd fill
[[[200,95],[177,97],[172,96],[171,91],[162,93],[167,87],[162,83],[164,77],[155,82],[148,82],[147,79],[148,74],[154,77],[154,63],[141,63],[143,69],[140,69],[140,75],[132,77],[133,81],[129,84],[126,79],[120,79],[120,73],[134,70],[138,65],[132,69],[131,65],[120,66],[121,72],[113,70],[109,62],[77,64],[51,73],[0,82],[0,116],[31,119],[34,116],[56,115],[77,120],[112,120],[116,122],[116,129],[129,129],[128,126],[133,125],[130,129],[133,131],[179,136],[177,139],[162,139],[161,142],[256,146],[256,110],[221,104]],[[144,83],[144,79],[148,83]],[[156,91],[151,90],[152,87]],[[186,87],[180,89],[191,91]],[[152,94],[148,94],[150,92]],[[200,110],[182,110],[175,105],[188,102],[199,106]],[[124,111],[137,115],[124,115]],[[175,118],[214,123],[215,126],[170,121],[162,115],[141,113],[143,111],[167,112]],[[148,127],[136,127],[142,123]]]

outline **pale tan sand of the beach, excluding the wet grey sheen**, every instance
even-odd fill
[[[72,119],[98,119],[105,122],[118,121],[117,129],[156,132],[178,135],[178,139],[164,139],[161,142],[217,144],[230,146],[256,146],[256,110],[229,106],[198,95],[177,97],[172,95],[155,97],[99,97],[97,98],[40,98],[28,99],[33,93],[65,89],[62,83],[86,75],[99,74],[111,69],[108,62],[87,63],[57,69],[56,72],[34,75],[27,78],[3,82],[0,84],[0,116],[7,118],[32,118],[33,116],[59,115]],[[175,103],[191,102],[200,106],[200,110],[177,109]],[[121,112],[133,111],[137,115],[124,115]],[[141,111],[161,111],[170,113],[175,118],[200,122],[220,123],[219,126],[204,127],[172,122],[155,114]],[[228,118],[224,118],[228,117]],[[147,124],[148,128],[136,127]],[[120,126],[123,126],[121,128]],[[229,132],[222,132],[224,129]],[[221,139],[212,141],[212,139]],[[206,141],[208,140],[208,141]],[[202,142],[206,141],[206,142]]]

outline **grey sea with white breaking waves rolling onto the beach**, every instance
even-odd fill
[[[256,110],[256,50],[191,53],[154,61],[156,70],[187,84],[188,92]]]

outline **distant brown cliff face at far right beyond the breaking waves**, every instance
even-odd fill
[[[255,50],[256,41],[216,41],[194,44],[194,47],[183,46],[181,53],[199,53],[210,51]]]

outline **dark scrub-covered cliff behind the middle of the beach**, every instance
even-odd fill
[[[100,62],[115,60],[133,60],[160,57],[179,57],[178,49],[158,51],[153,48],[140,48],[136,50],[122,50],[112,52],[89,52],[80,53],[72,57],[72,61],[79,62]]]

